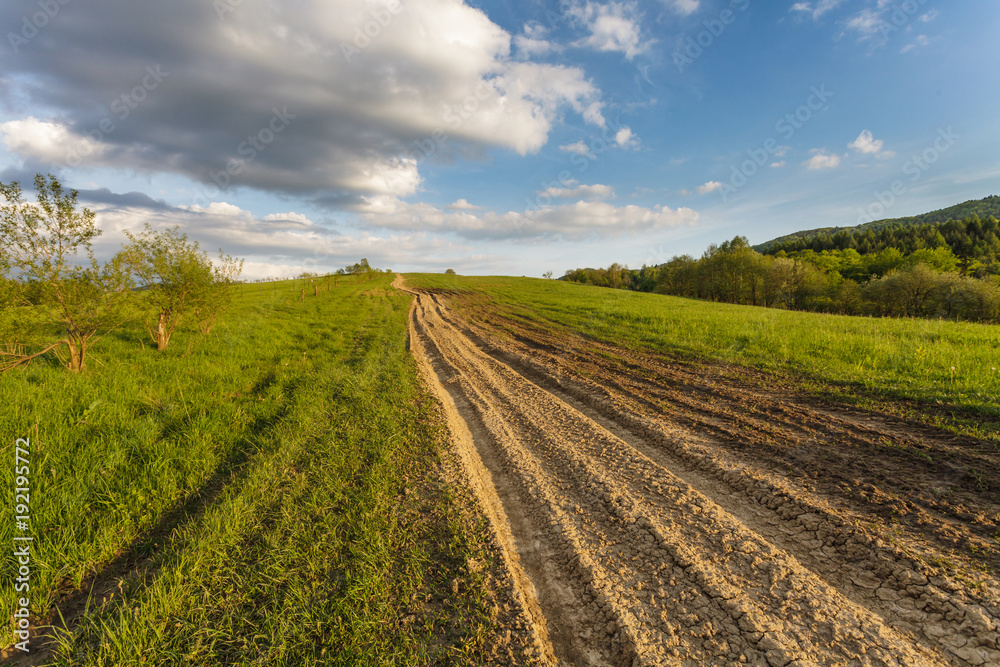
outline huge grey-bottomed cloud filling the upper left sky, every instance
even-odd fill
[[[11,94],[52,113],[6,123],[5,144],[50,164],[72,152],[90,166],[353,205],[418,191],[428,142],[436,153],[527,154],[567,111],[604,126],[601,91],[583,70],[513,58],[511,35],[481,10],[461,0],[398,6],[89,3],[86,21],[52,21],[30,57],[0,61]],[[0,23],[34,10],[3,3]],[[608,11],[595,9],[591,23],[634,52],[638,42],[613,25],[624,6]],[[524,36],[544,39],[535,28]],[[148,68],[162,73],[155,82]]]

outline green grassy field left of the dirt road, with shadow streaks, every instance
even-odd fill
[[[55,664],[476,662],[482,526],[436,481],[442,432],[390,282],[304,302],[248,285],[208,338],[157,353],[125,326],[82,376],[0,376],[11,500],[31,440],[32,612],[83,591]],[[15,534],[8,515],[0,540]],[[0,608],[18,596],[3,586]]]

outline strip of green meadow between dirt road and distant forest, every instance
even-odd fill
[[[408,276],[485,294],[512,317],[688,359],[808,378],[859,396],[1000,415],[1000,327],[717,304],[557,280]],[[967,420],[966,420],[967,421]],[[995,429],[966,425],[980,436]]]

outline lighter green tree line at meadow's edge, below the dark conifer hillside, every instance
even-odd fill
[[[970,266],[983,270],[972,275]],[[762,254],[737,236],[697,259],[683,255],[638,270],[620,264],[575,269],[563,280],[772,308],[1000,322],[994,268],[963,264],[947,245],[908,253],[885,247],[867,254],[854,248]]]

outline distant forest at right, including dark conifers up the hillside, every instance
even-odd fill
[[[1000,203],[982,201],[993,199]],[[737,236],[697,259],[575,269],[562,279],[773,308],[1000,323],[996,217],[919,219],[792,235],[758,246],[763,252]]]

